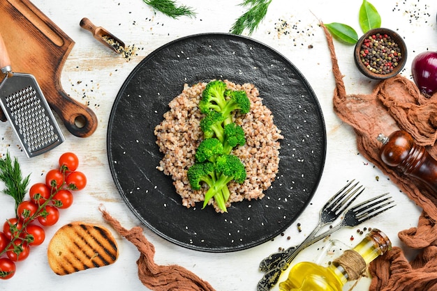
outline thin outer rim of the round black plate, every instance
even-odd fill
[[[119,181],[115,178],[114,174],[115,174],[115,170],[114,170],[114,164],[112,163],[112,155],[111,155],[111,150],[110,150],[110,138],[112,133],[111,131],[111,126],[113,123],[113,119],[114,119],[114,111],[116,111],[117,109],[117,102],[119,101],[119,99],[121,98],[121,94],[124,92],[124,89],[126,88],[126,86],[128,86],[129,81],[131,80],[131,78],[133,76],[135,76],[136,72],[138,72],[138,70],[140,70],[140,68],[142,68],[142,63],[147,62],[150,58],[154,57],[154,54],[160,52],[163,49],[166,49],[167,47],[172,46],[173,44],[177,43],[177,42],[181,42],[187,39],[191,39],[191,38],[199,38],[202,36],[208,36],[208,37],[214,37],[214,36],[229,36],[230,38],[242,38],[246,41],[251,41],[254,43],[257,43],[258,45],[261,45],[263,47],[265,47],[266,49],[269,49],[272,53],[277,54],[278,56],[280,56],[281,58],[283,58],[284,61],[288,62],[292,67],[294,67],[296,69],[296,74],[299,76],[299,78],[301,79],[302,83],[306,86],[306,90],[311,94],[311,96],[313,97],[313,102],[316,105],[316,109],[318,111],[318,116],[320,117],[320,123],[321,123],[321,127],[322,127],[322,134],[323,134],[323,144],[321,146],[323,146],[323,152],[321,152],[321,155],[323,157],[323,161],[320,163],[320,169],[319,169],[319,173],[318,173],[318,179],[316,181],[314,181],[313,184],[313,191],[311,193],[311,195],[309,196],[309,199],[307,200],[306,204],[304,205],[304,207],[302,207],[302,209],[300,209],[299,212],[297,212],[297,214],[295,215],[295,218],[292,219],[292,221],[290,221],[290,223],[288,223],[288,225],[284,226],[283,228],[279,228],[278,230],[276,230],[275,232],[272,232],[269,236],[267,236],[265,239],[262,239],[262,241],[255,241],[255,242],[251,242],[251,243],[246,243],[242,246],[237,246],[237,247],[223,247],[220,249],[210,249],[210,248],[205,248],[202,246],[196,246],[193,244],[188,244],[185,242],[180,242],[177,239],[174,239],[172,237],[169,237],[168,235],[166,235],[165,233],[161,232],[161,230],[156,229],[154,226],[152,226],[148,221],[146,221],[139,213],[137,210],[135,210],[135,207],[132,205],[131,201],[128,200],[128,198],[126,197],[126,194],[124,194],[124,189],[122,189]],[[260,244],[264,244],[265,242],[268,242],[272,239],[274,239],[274,237],[277,237],[278,235],[280,235],[281,233],[283,233],[284,230],[286,230],[286,228],[288,228],[301,214],[302,212],[306,209],[306,207],[309,205],[309,203],[311,202],[316,190],[318,189],[318,185],[320,184],[320,180],[322,178],[322,174],[325,168],[325,162],[326,162],[326,155],[327,155],[327,132],[326,132],[326,124],[325,124],[325,118],[323,116],[323,111],[320,107],[320,102],[318,101],[318,98],[316,96],[316,93],[314,93],[313,88],[310,86],[309,81],[306,79],[306,77],[304,77],[304,75],[302,74],[302,72],[300,70],[297,69],[297,67],[288,59],[286,58],[286,56],[284,56],[283,54],[281,54],[280,52],[278,52],[276,49],[270,47],[269,45],[266,45],[263,42],[260,42],[259,40],[255,40],[253,38],[250,38],[248,36],[239,36],[239,35],[235,35],[232,33],[220,33],[220,32],[213,32],[213,33],[195,33],[195,34],[191,34],[188,36],[183,36],[181,38],[177,38],[175,40],[172,40],[170,42],[165,43],[164,45],[161,45],[161,47],[158,47],[156,49],[154,49],[154,51],[152,51],[151,53],[149,53],[147,56],[145,56],[145,58],[142,59],[142,61],[140,61],[140,63],[138,63],[138,65],[135,66],[135,68],[133,68],[133,70],[131,71],[130,74],[128,74],[128,77],[126,77],[124,83],[122,84],[122,86],[119,89],[119,92],[117,93],[117,96],[114,99],[113,105],[112,105],[112,109],[110,111],[110,116],[109,116],[109,120],[108,120],[108,129],[107,129],[107,154],[108,154],[108,164],[110,167],[110,172],[112,175],[112,180],[114,181],[114,184],[117,187],[117,191],[119,192],[119,195],[121,196],[121,198],[124,200],[124,203],[126,204],[126,206],[128,206],[129,210],[131,210],[131,212],[135,215],[135,217],[137,217],[137,219],[147,228],[149,228],[149,230],[151,230],[153,233],[155,233],[156,235],[158,235],[159,237],[167,240],[168,242],[172,242],[178,246],[182,246],[186,249],[191,249],[194,251],[204,251],[204,252],[208,252],[208,253],[226,253],[226,252],[233,252],[233,251],[242,251],[245,249],[251,249],[254,246],[258,246]]]

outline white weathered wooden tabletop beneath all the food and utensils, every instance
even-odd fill
[[[57,166],[61,153],[73,151],[80,157],[80,169],[87,174],[88,184],[86,189],[75,194],[73,206],[62,211],[57,225],[47,228],[44,244],[31,249],[29,258],[17,263],[17,274],[8,281],[0,281],[0,290],[147,290],[137,276],[137,249],[114,231],[120,251],[119,259],[114,265],[68,276],[57,276],[48,266],[47,244],[59,227],[71,221],[108,226],[98,211],[98,205],[101,204],[125,228],[140,225],[117,193],[108,167],[106,133],[112,103],[131,70],[154,49],[171,40],[195,33],[228,32],[235,19],[244,13],[244,8],[237,5],[239,2],[183,0],[180,3],[195,8],[197,16],[171,19],[161,13],[154,13],[141,0],[33,1],[75,40],[75,46],[61,75],[61,84],[71,97],[88,104],[94,110],[99,124],[96,132],[85,139],[72,136],[61,125],[66,142],[51,152],[32,159],[27,159],[17,149],[17,139],[10,125],[1,124],[1,155],[9,150],[11,155],[18,157],[24,173],[31,173],[31,183],[42,181],[45,173]],[[405,38],[408,61],[403,74],[408,77],[413,57],[426,49],[435,50],[437,47],[437,5],[434,0],[372,2],[383,18],[382,26],[399,31]],[[302,71],[323,109],[327,130],[327,157],[323,176],[311,204],[283,236],[260,246],[232,253],[205,253],[184,249],[144,228],[145,236],[156,247],[156,263],[182,265],[211,283],[216,290],[255,290],[256,283],[262,277],[262,273],[258,271],[260,260],[277,251],[279,247],[302,242],[315,226],[318,211],[327,198],[352,178],[360,180],[366,186],[365,194],[360,200],[391,192],[397,207],[377,219],[367,221],[364,226],[340,230],[332,238],[353,246],[360,238],[357,229],[380,228],[389,235],[395,246],[402,247],[397,233],[416,226],[421,210],[358,154],[353,130],[342,123],[332,110],[334,78],[325,35],[318,26],[318,19],[325,23],[343,22],[361,33],[358,24],[360,5],[361,1],[358,0],[273,0],[267,17],[252,36],[279,51]],[[82,17],[88,17],[97,26],[105,27],[127,45],[135,44],[140,47],[138,55],[126,62],[124,58],[110,52],[94,40],[88,31],[80,28]],[[278,31],[278,26],[285,22],[289,26]],[[353,47],[339,42],[335,42],[335,45],[348,93],[370,92],[374,82],[356,70],[352,56]],[[0,221],[13,217],[13,208],[12,199],[0,195]],[[302,232],[298,231],[297,223],[301,224]],[[356,237],[353,242],[350,241],[352,235]],[[288,236],[291,238],[287,239]],[[305,249],[295,261],[316,260],[320,254],[318,249],[324,244],[325,242],[318,242]],[[413,252],[406,249],[406,253]],[[362,279],[355,290],[366,290],[368,285],[369,280]],[[278,290],[277,286],[275,290]]]

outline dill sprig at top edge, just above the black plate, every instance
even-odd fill
[[[249,6],[249,9],[235,21],[230,33],[242,34],[244,29],[247,29],[251,36],[267,14],[271,2],[272,0],[244,0],[240,3],[240,6]]]

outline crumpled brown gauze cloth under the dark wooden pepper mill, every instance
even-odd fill
[[[403,129],[436,158],[437,93],[426,98],[412,81],[398,75],[380,81],[371,94],[346,94],[332,36],[323,24],[321,26],[327,38],[336,82],[333,97],[335,113],[355,130],[360,154],[380,168],[410,200],[423,209],[417,228],[399,233],[403,243],[420,250],[420,253],[412,262],[408,262],[402,249],[394,246],[391,251],[371,262],[369,271],[373,278],[370,290],[437,291],[437,197],[417,187],[417,181],[413,178],[385,165],[379,157],[381,144],[376,140],[380,133],[388,136]]]

